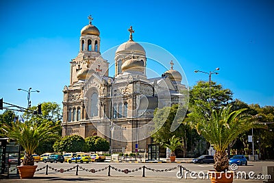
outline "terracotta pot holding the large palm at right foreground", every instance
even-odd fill
[[[210,170],[208,171],[212,183],[232,183],[234,178],[234,171],[219,172]]]

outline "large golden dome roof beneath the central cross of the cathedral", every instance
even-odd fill
[[[138,44],[137,42],[134,42],[133,40],[128,40],[127,42],[124,42],[122,45],[120,45],[116,49],[116,54],[117,53],[141,53],[142,55],[145,56],[145,49]]]

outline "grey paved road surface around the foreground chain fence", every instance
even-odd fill
[[[45,170],[42,169],[46,165],[56,169],[48,170],[49,175],[45,175]],[[213,164],[191,164],[191,163],[128,163],[128,162],[119,162],[119,163],[110,163],[110,162],[97,162],[97,163],[79,163],[79,171],[76,176],[76,165],[75,163],[47,163],[38,162],[38,169],[34,175],[33,180],[0,180],[0,182],[210,182],[210,180],[202,180],[197,178],[193,180],[190,178],[190,175],[187,175],[187,179],[183,177],[182,179],[177,178],[177,172],[179,171],[178,165],[182,165],[190,171],[203,171],[206,173],[208,170],[213,169]],[[108,165],[114,167],[110,169],[110,175],[108,176]],[[254,171],[255,173],[262,173],[262,166],[274,166],[274,162],[249,162],[248,166],[239,167],[238,171]],[[145,178],[142,177],[142,167],[145,166]],[[74,169],[71,169],[75,167]],[[66,171],[60,173],[60,169]],[[71,170],[70,170],[71,169]],[[89,172],[91,169],[95,169],[96,173]],[[129,169],[134,172],[123,173],[122,171]],[[86,171],[88,170],[88,171]],[[101,170],[101,171],[100,171]],[[119,171],[120,170],[120,171]],[[154,170],[154,171],[153,171]],[[160,172],[158,172],[158,171]],[[237,171],[236,171],[237,172]],[[186,173],[186,171],[184,171]],[[184,174],[185,175],[185,174]],[[197,177],[197,176],[196,176]],[[262,182],[262,180],[237,180],[234,182]]]

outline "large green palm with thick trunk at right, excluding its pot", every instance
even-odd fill
[[[206,141],[216,149],[214,154],[214,169],[228,170],[228,157],[225,150],[238,136],[252,127],[262,127],[256,117],[244,113],[247,109],[231,110],[232,106],[213,110],[212,116],[206,119],[203,115],[189,114],[190,126],[194,127]]]

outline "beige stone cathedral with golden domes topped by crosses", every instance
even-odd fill
[[[146,51],[129,40],[115,52],[115,75],[109,76],[110,62],[101,56],[100,32],[89,24],[81,30],[79,52],[70,62],[70,84],[64,86],[62,136],[101,136],[114,151],[147,151],[153,143],[153,112],[156,108],[184,104],[182,75],[173,69],[160,77],[147,78]]]

